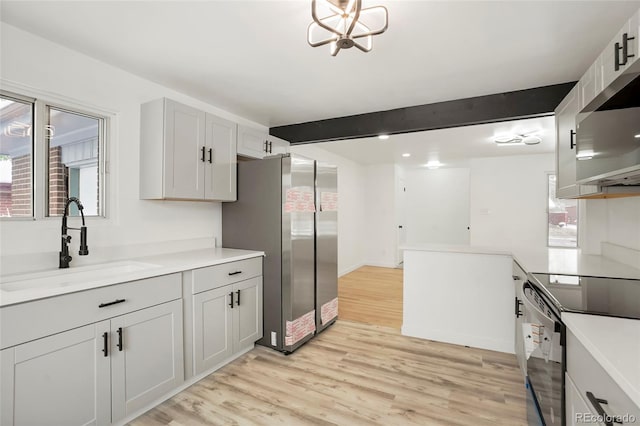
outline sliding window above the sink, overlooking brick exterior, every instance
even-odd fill
[[[2,93],[0,216],[61,216],[69,197],[82,202],[85,216],[103,216],[106,120]],[[75,204],[69,214],[79,214]]]

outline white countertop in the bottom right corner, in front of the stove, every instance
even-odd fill
[[[640,320],[563,312],[562,321],[640,407]]]

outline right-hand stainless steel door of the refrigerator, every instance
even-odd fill
[[[338,168],[316,163],[316,328],[331,325],[338,298]]]

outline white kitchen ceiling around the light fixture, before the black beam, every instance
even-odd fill
[[[267,126],[578,79],[640,1],[399,1],[373,51],[311,48],[310,0],[7,1],[0,19]]]

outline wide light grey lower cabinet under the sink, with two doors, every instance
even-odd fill
[[[180,295],[172,274],[3,307],[0,424],[109,425],[167,395],[184,382]]]

